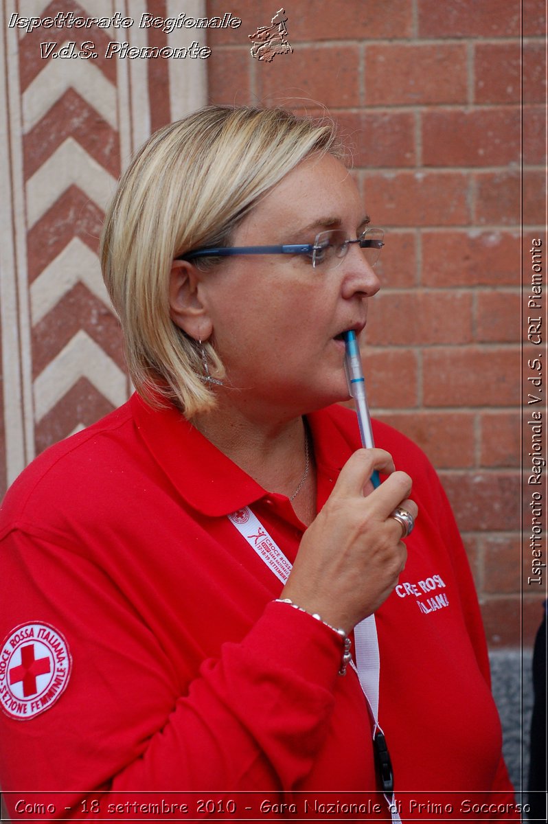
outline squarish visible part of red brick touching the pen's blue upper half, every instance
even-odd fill
[[[415,353],[377,351],[363,346],[363,372],[372,410],[417,405],[418,366]]]

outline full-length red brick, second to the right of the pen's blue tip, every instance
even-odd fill
[[[518,349],[447,346],[425,349],[424,405],[518,405],[520,366]]]

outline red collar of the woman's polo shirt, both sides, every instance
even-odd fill
[[[219,517],[236,512],[267,493],[234,461],[204,438],[174,405],[152,408],[140,396],[131,398],[133,419],[149,452],[180,495],[199,513]],[[307,415],[318,475],[328,481],[325,497],[341,467],[354,451],[335,422],[330,409]],[[324,503],[323,500],[321,503]]]

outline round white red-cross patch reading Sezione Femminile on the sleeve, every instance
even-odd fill
[[[63,635],[49,624],[21,624],[0,653],[0,704],[12,719],[31,719],[58,700],[73,659]]]

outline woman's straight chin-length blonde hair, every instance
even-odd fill
[[[149,402],[175,402],[189,419],[215,404],[201,377],[199,346],[171,321],[174,258],[227,245],[261,196],[304,158],[326,152],[344,158],[330,120],[208,106],[152,134],[134,157],[106,213],[101,267],[129,374]],[[213,346],[204,345],[212,372],[222,377]]]

